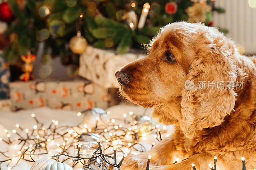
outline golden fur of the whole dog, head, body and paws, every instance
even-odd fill
[[[148,48],[148,55],[121,70],[127,83],[120,87],[128,100],[154,109],[160,123],[174,124],[172,137],[137,156],[129,155],[122,169],[256,168],[256,59],[240,55],[234,42],[217,28],[177,22],[164,26]],[[170,63],[166,52],[175,56]],[[187,90],[186,80],[195,86]],[[243,82],[243,88],[198,88],[200,82]],[[186,159],[188,158],[188,159]],[[183,160],[186,159],[186,160]],[[183,160],[183,161],[181,161]],[[180,161],[177,164],[172,164]]]

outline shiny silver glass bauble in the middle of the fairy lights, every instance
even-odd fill
[[[100,136],[92,132],[79,135],[74,143],[76,154],[79,152],[81,157],[91,157],[98,148],[97,139],[100,139]]]

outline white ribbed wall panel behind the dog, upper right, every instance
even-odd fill
[[[244,54],[256,54],[256,8],[249,7],[248,0],[216,0],[216,6],[226,13],[214,14],[214,26],[227,28],[227,36],[244,46]]]

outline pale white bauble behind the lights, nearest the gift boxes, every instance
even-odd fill
[[[102,120],[105,122],[108,120],[108,115],[106,111],[98,107],[94,107],[91,110],[84,112],[83,114],[84,114],[84,121],[83,121],[84,124],[86,124],[88,128],[91,128],[91,129],[96,127],[97,118],[99,119],[98,125],[100,123],[102,124]]]

